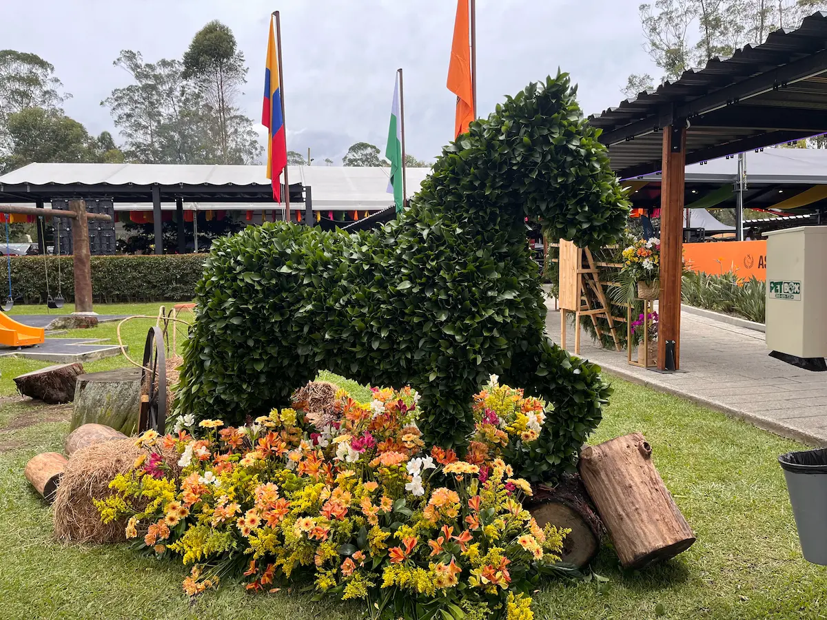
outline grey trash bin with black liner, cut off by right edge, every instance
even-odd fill
[[[804,559],[827,565],[827,448],[778,457]]]

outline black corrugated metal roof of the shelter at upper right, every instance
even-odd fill
[[[589,117],[612,169],[627,179],[660,170],[662,128],[686,125],[686,163],[827,132],[827,12],[772,32],[730,58]]]

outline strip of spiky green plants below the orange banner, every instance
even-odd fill
[[[697,308],[762,323],[767,310],[767,283],[754,275],[748,280],[739,278],[734,271],[721,275],[687,271],[681,283],[681,298]]]

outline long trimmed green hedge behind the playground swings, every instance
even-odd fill
[[[74,269],[71,256],[12,257],[12,295],[18,303],[45,303],[46,269],[49,291],[60,290],[67,301],[74,300]],[[194,298],[195,284],[203,272],[203,254],[93,256],[92,295],[98,303],[136,301],[184,301]],[[3,269],[5,270],[5,269]],[[4,276],[6,274],[3,274]],[[3,278],[5,279],[5,278]],[[0,284],[6,296],[7,284]]]

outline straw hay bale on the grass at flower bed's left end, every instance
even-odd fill
[[[61,541],[125,541],[127,520],[101,522],[92,500],[108,498],[112,479],[126,474],[138,456],[152,451],[137,447],[134,439],[122,439],[88,446],[71,455],[55,498],[55,536]],[[162,451],[160,446],[155,451],[164,456],[175,475],[180,473],[177,453]]]

